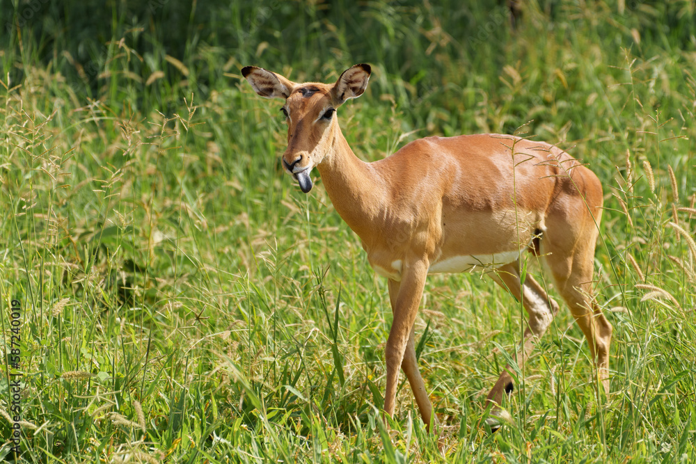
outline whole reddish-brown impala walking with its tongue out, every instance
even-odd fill
[[[489,269],[528,313],[516,355],[523,366],[558,311],[531,275],[521,278],[526,251],[548,264],[608,393],[612,326],[591,288],[603,198],[590,169],[553,145],[495,134],[421,138],[365,163],[348,146],[336,111],[365,91],[369,65],[354,65],[331,84],[294,83],[255,66],[244,67],[242,74],[258,95],[285,102],[280,109],[287,120],[283,168],[304,193],[312,189],[317,168],[370,265],[388,279],[393,323],[385,349],[386,414],[394,413],[401,367],[428,429],[436,421],[413,335],[430,273]],[[493,415],[501,413],[503,393],[512,392],[511,372],[507,365],[487,397]]]

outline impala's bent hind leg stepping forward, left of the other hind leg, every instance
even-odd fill
[[[522,283],[519,267],[519,262],[506,264],[498,268],[497,273],[491,273],[491,277],[498,285],[507,289],[517,301],[522,301],[522,305],[528,314],[522,350],[521,353],[515,356],[517,365],[522,369],[534,349],[536,340],[541,338],[548,326],[551,325],[553,317],[558,312],[558,303],[548,297],[546,291],[531,275],[527,274],[525,281]],[[512,367],[510,365],[505,366],[496,385],[493,385],[493,389],[488,394],[487,401],[496,404],[492,411],[493,415],[498,415],[500,411],[503,392],[509,394],[514,389],[511,371]],[[493,419],[489,421],[489,424],[493,425],[495,422],[495,419]]]

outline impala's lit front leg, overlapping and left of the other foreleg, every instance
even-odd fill
[[[398,294],[395,298],[392,297],[392,310],[394,313],[394,321],[392,322],[389,338],[385,349],[386,364],[387,364],[387,386],[384,393],[384,412],[388,415],[394,414],[394,406],[396,401],[396,389],[399,381],[399,370],[404,361],[404,354],[409,346],[409,338],[411,337],[411,328],[413,322],[416,321],[418,314],[418,305],[423,296],[423,287],[425,287],[425,278],[427,277],[428,263],[425,260],[420,260],[404,266],[402,271],[401,285],[399,286]],[[392,287],[392,285],[390,285]],[[415,358],[415,350],[413,353]],[[409,356],[409,367],[413,367],[415,359]],[[418,369],[417,366],[416,370]],[[413,370],[406,371],[409,375]],[[418,373],[420,378],[420,373]],[[411,375],[409,375],[411,380]],[[422,385],[422,380],[420,381]],[[420,404],[419,404],[420,406]],[[423,420],[426,424],[430,424],[430,417],[423,415]],[[428,414],[429,416],[429,414]]]

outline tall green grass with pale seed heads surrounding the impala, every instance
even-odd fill
[[[0,1],[0,458],[16,399],[22,463],[693,462],[695,3],[534,0],[516,29],[467,3]],[[608,397],[562,305],[488,433],[523,310],[433,275],[416,335],[444,454],[407,383],[381,424],[386,280],[318,175],[304,195],[283,173],[280,103],[239,72],[362,62],[338,113],[362,159],[524,131],[599,176]]]

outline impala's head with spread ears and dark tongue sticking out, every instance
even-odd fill
[[[335,131],[340,130],[335,111],[347,99],[363,94],[370,79],[370,65],[354,65],[332,84],[294,83],[255,66],[242,68],[242,75],[262,97],[285,100],[280,108],[287,121],[283,168],[307,193],[312,189],[312,168],[330,152]]]

